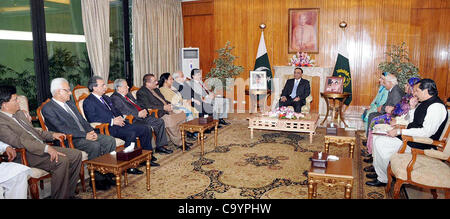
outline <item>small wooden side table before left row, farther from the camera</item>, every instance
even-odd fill
[[[219,120],[213,120],[207,124],[200,124],[198,118],[181,124],[180,131],[181,131],[181,141],[183,142],[183,152],[185,150],[185,144],[186,144],[185,131],[198,132],[198,143],[201,144],[201,150],[202,150],[202,156],[203,156],[204,150],[205,150],[204,132],[212,127],[214,127],[214,146],[217,147],[217,133],[218,133],[217,127],[218,127],[218,125],[219,125]]]

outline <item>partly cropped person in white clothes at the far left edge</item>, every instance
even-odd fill
[[[31,168],[11,162],[17,154],[9,145],[0,141],[0,155],[6,152],[8,162],[2,162],[0,158],[0,187],[4,195],[0,193],[0,199],[27,199],[28,176]]]

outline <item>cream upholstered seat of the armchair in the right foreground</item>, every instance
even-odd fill
[[[406,167],[412,155],[409,153],[396,153],[391,158],[391,169],[394,175],[402,180],[407,180]],[[432,187],[450,188],[450,166],[441,160],[425,155],[417,155],[414,169],[411,172],[411,180]]]

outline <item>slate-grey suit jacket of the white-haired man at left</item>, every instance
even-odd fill
[[[86,138],[86,133],[94,130],[91,125],[83,118],[81,113],[72,101],[67,101],[67,105],[78,118],[85,131],[81,131],[73,117],[58,103],[51,100],[42,108],[42,115],[45,118],[45,125],[48,130],[72,134],[74,138]]]

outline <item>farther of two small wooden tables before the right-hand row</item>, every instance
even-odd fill
[[[325,153],[329,152],[330,143],[337,145],[348,144],[349,147],[349,157],[353,158],[353,151],[356,145],[356,132],[355,131],[345,131],[344,128],[337,128],[337,133],[325,134]]]

